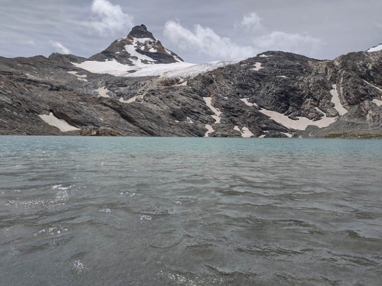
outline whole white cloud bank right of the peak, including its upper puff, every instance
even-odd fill
[[[190,30],[176,21],[167,21],[164,34],[179,48],[196,50],[213,59],[254,57],[270,50],[314,56],[323,45],[321,39],[307,34],[267,31],[262,25],[262,18],[256,13],[245,15],[239,26],[245,28],[249,45],[240,45],[230,38],[221,37],[208,27],[195,25]]]

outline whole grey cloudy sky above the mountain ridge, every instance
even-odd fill
[[[145,24],[184,60],[333,59],[382,43],[381,0],[0,0],[0,56],[89,57]]]

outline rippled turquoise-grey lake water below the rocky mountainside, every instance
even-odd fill
[[[381,285],[382,141],[0,136],[0,285]]]

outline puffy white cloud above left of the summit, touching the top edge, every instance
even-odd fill
[[[84,24],[101,35],[123,31],[133,26],[133,16],[125,14],[119,5],[113,5],[107,0],[93,0],[91,9],[94,18]]]

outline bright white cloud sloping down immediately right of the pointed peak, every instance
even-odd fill
[[[181,49],[196,49],[214,58],[245,58],[255,53],[252,47],[239,46],[231,39],[220,37],[212,29],[201,25],[195,25],[191,31],[178,22],[167,21],[164,34]]]

